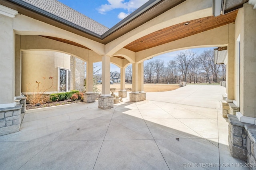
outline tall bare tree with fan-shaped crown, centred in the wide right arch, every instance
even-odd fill
[[[194,53],[193,51],[186,50],[179,53],[175,58],[175,61],[178,64],[180,71],[182,72],[183,81],[185,82],[187,81],[188,67],[193,61],[195,55],[196,53]]]

